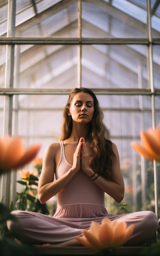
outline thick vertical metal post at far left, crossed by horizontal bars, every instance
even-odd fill
[[[8,18],[7,18],[7,37],[15,36],[15,12],[16,0],[8,1]],[[6,47],[6,67],[5,67],[5,88],[13,88],[13,71],[14,71],[14,45]],[[12,133],[12,104],[13,95],[5,96],[4,98],[4,122],[3,135],[11,135]],[[1,178],[1,195],[3,203],[9,206],[10,204],[10,183],[11,173],[5,173]]]

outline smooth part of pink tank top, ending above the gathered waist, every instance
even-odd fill
[[[56,179],[63,176],[72,166],[67,162],[64,154],[64,144],[61,145],[61,157],[55,171]],[[68,184],[57,193],[58,206],[66,204],[101,204],[104,203],[104,191],[80,170]]]

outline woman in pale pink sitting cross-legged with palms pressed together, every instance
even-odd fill
[[[8,228],[20,240],[61,246],[79,245],[75,236],[81,236],[82,229],[89,229],[92,221],[100,223],[105,217],[126,221],[127,226],[134,224],[126,245],[145,243],[156,233],[155,213],[111,215],[105,208],[105,193],[116,202],[124,197],[118,150],[107,139],[103,112],[95,94],[87,88],[75,88],[64,108],[60,141],[46,147],[39,177],[39,201],[44,204],[57,195],[57,210],[53,217],[13,211],[20,225],[8,222]]]

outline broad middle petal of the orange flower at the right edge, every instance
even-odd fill
[[[146,150],[158,158],[160,155],[160,146],[156,142],[155,138],[149,132],[141,132],[140,138]]]

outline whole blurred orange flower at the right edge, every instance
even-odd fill
[[[132,148],[148,160],[160,161],[160,124],[155,130],[149,128],[147,132],[140,133],[142,144],[131,142]]]

